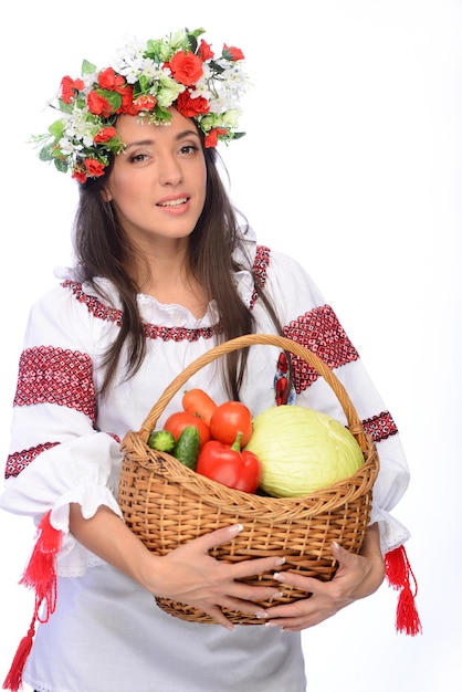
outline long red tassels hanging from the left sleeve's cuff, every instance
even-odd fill
[[[35,622],[46,622],[56,607],[56,554],[61,549],[62,533],[53,528],[50,515],[51,511],[43,516],[38,526],[35,546],[20,579],[20,584],[35,590],[35,605],[29,631],[22,638],[3,682],[3,690],[11,690],[11,692],[18,692],[22,688],[22,673],[32,649]],[[45,610],[44,615],[40,616],[43,602]]]

